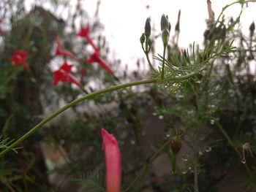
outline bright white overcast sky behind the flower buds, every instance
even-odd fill
[[[75,7],[76,0],[72,0]],[[211,0],[212,8],[217,17],[222,11],[222,7],[232,3],[234,0]],[[33,0],[26,0],[26,6],[30,9]],[[91,18],[96,9],[96,0],[81,0],[84,9]],[[149,9],[146,9],[149,5]],[[146,18],[151,17],[151,25],[155,26],[156,34],[160,31],[160,18],[162,14],[168,15],[172,25],[171,36],[174,34],[178,10],[181,9],[181,33],[179,45],[187,48],[189,43],[196,42],[202,44],[203,32],[206,29],[206,19],[208,18],[206,0],[108,0],[101,1],[99,7],[99,18],[105,26],[103,35],[106,36],[111,51],[114,51],[116,58],[120,58],[124,64],[134,64],[135,58],[144,57],[140,47],[140,35],[144,31]],[[244,31],[249,33],[249,25],[256,21],[256,3],[249,4],[241,17]],[[226,18],[233,16],[236,18],[240,11],[240,5],[236,4],[227,9]],[[61,14],[64,14],[62,12]],[[157,41],[157,53],[162,53],[161,39]]]

